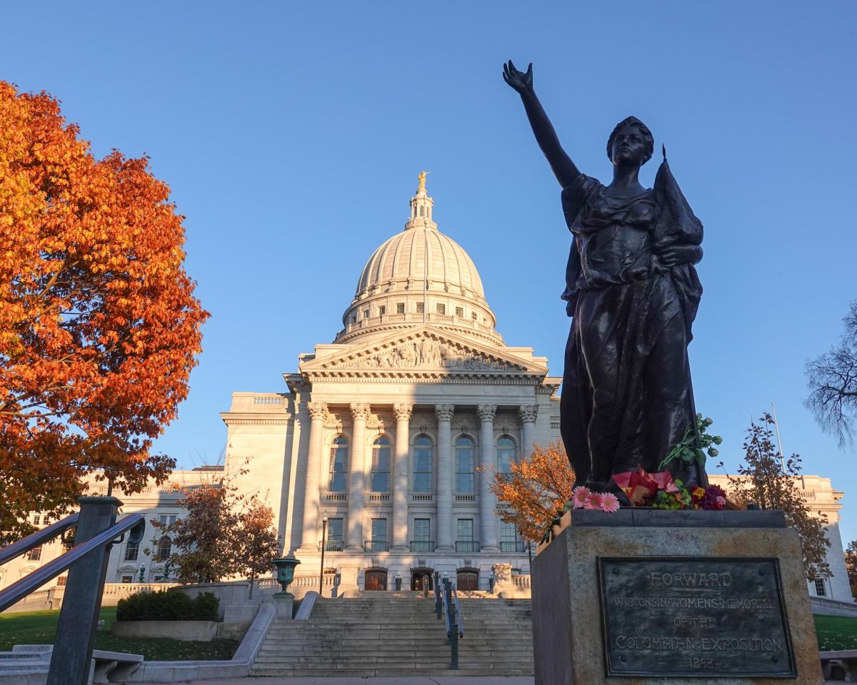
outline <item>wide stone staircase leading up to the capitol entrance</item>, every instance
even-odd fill
[[[251,676],[529,676],[529,599],[463,599],[459,670],[450,670],[446,623],[418,593],[321,599],[309,621],[275,621]]]

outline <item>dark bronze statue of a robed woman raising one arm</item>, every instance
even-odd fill
[[[510,60],[503,78],[521,96],[536,142],[562,187],[572,231],[566,267],[566,343],[560,431],[576,482],[617,491],[613,474],[659,465],[696,431],[687,344],[702,286],[702,223],[676,184],[664,152],[655,186],[643,188],[640,167],[654,151],[649,129],[634,116],[607,143],[613,181],[582,174],[533,89],[532,64]],[[690,432],[690,433],[689,433]],[[668,467],[686,485],[706,485],[703,468],[680,460]]]

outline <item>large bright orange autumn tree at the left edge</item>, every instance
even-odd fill
[[[147,158],[96,159],[46,93],[0,81],[0,538],[58,515],[96,469],[161,481],[207,319]]]

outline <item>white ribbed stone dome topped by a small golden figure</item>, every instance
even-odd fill
[[[456,241],[440,233],[433,208],[421,175],[411,218],[369,257],[336,343],[429,323],[502,344],[476,265]]]

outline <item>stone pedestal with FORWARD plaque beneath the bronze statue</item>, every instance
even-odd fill
[[[782,512],[578,510],[554,533],[532,563],[536,685],[824,682]]]

